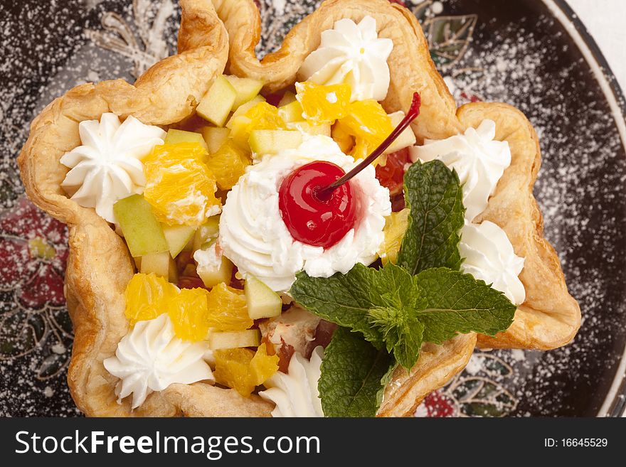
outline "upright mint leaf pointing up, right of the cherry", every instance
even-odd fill
[[[418,161],[405,173],[404,193],[410,215],[398,265],[410,274],[431,267],[459,269],[465,208],[457,173],[442,161]]]

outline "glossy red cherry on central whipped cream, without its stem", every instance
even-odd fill
[[[344,176],[334,163],[314,161],[297,168],[278,192],[280,215],[292,237],[314,247],[329,248],[356,223],[357,200],[350,183],[328,193],[320,188]]]

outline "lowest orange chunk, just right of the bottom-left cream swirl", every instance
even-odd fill
[[[233,348],[216,350],[213,355],[216,381],[233,388],[243,397],[249,397],[255,387],[262,385],[278,370],[278,356],[267,355],[265,343],[259,346],[256,353],[246,348]]]

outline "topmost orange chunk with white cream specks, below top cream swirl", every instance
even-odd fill
[[[313,124],[332,123],[346,117],[350,107],[350,85],[316,85],[297,82],[297,100],[302,104],[304,117]]]

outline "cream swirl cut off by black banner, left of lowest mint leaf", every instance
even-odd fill
[[[296,352],[287,374],[275,372],[263,383],[267,390],[260,391],[260,397],[276,404],[272,417],[324,417],[317,390],[322,358],[321,345],[314,348],[310,360]]]

